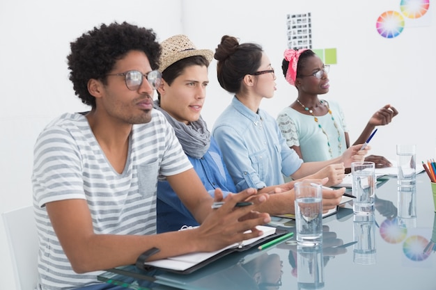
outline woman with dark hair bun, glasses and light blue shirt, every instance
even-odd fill
[[[276,120],[260,109],[262,99],[272,98],[276,90],[274,69],[263,49],[224,35],[214,57],[219,84],[234,97],[215,121],[212,135],[238,190],[281,184],[283,175],[329,177],[331,186],[342,182],[345,166],[363,161],[366,149],[359,151],[361,146],[356,145],[336,159],[303,163],[286,145]]]

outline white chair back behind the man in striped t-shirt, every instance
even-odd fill
[[[33,290],[38,277],[38,234],[33,206],[1,214],[17,290]]]

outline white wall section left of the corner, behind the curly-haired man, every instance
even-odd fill
[[[68,80],[70,42],[104,22],[153,28],[160,40],[182,32],[178,0],[0,1],[0,212],[31,204],[33,144],[65,111],[85,111]],[[162,16],[164,15],[164,16]],[[0,289],[14,289],[0,223]]]

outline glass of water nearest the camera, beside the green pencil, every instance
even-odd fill
[[[297,243],[322,243],[322,185],[311,181],[295,183],[295,227]]]

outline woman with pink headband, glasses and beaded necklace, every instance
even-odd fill
[[[287,49],[282,63],[286,81],[295,86],[298,97],[283,108],[277,118],[287,145],[304,162],[326,161],[341,156],[350,147],[350,137],[341,106],[319,99],[329,91],[329,65],[310,49]],[[389,124],[398,114],[387,104],[371,117],[354,144],[364,143],[376,126]],[[383,156],[366,156],[377,167],[391,166]]]

